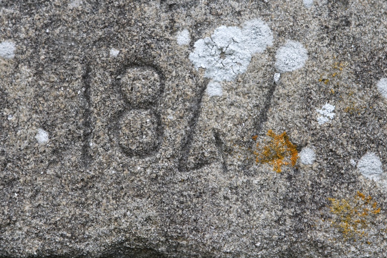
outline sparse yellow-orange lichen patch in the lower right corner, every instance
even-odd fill
[[[332,205],[329,207],[330,211],[334,214],[331,220],[332,225],[342,232],[344,240],[351,238],[356,241],[356,239],[367,236],[367,229],[373,215],[380,213],[377,203],[371,204],[372,197],[366,197],[359,191],[351,201],[334,198],[328,198],[328,200]]]

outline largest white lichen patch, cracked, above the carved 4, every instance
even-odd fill
[[[197,70],[206,69],[206,78],[232,81],[246,72],[252,54],[263,52],[272,42],[272,32],[261,20],[246,22],[242,29],[220,26],[211,37],[195,42],[189,59]]]

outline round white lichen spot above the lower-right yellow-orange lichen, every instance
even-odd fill
[[[363,176],[369,179],[378,179],[383,173],[381,165],[380,158],[375,153],[367,152],[357,163],[357,168]]]

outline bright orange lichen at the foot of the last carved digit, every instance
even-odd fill
[[[266,146],[260,148],[256,144],[256,151],[254,151],[256,163],[269,163],[273,165],[273,170],[277,173],[282,171],[282,166],[295,166],[298,159],[298,152],[296,145],[289,141],[286,132],[281,135],[276,135],[272,130],[268,131],[267,136],[271,139]]]

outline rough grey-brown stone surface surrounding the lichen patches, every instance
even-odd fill
[[[351,164],[387,164],[387,2],[304,2],[0,0],[0,256],[385,257],[386,172]],[[273,45],[206,94],[193,44],[254,19]],[[276,84],[288,40],[308,59]],[[316,160],[255,164],[270,129]],[[381,208],[369,243],[329,221],[358,190]]]

